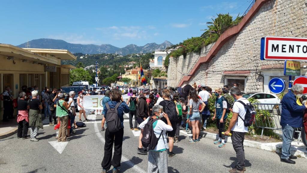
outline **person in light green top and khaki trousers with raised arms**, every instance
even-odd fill
[[[67,126],[68,126],[68,109],[72,104],[73,100],[69,103],[69,95],[64,93],[60,93],[58,95],[59,100],[56,103],[56,116],[60,119],[60,128],[59,128],[59,136],[58,142],[67,142]]]

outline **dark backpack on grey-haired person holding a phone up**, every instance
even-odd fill
[[[145,124],[145,127],[143,128],[143,137],[141,139],[141,142],[143,147],[145,147],[147,150],[154,150],[154,148],[158,144],[161,135],[163,134],[163,131],[161,131],[159,138],[157,138],[156,135],[154,134],[153,123],[156,122],[157,120],[158,120],[157,118],[153,119],[152,116],[150,116],[148,118],[148,122]]]

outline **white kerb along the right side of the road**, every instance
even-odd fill
[[[185,130],[180,130],[181,133],[185,134],[186,136],[189,136]],[[215,133],[209,133],[209,132],[203,132],[200,131],[200,136],[202,138],[208,138],[208,139],[213,139],[217,140],[219,139],[219,135]],[[225,136],[225,142],[231,143],[231,138],[228,136]],[[266,151],[271,151],[271,152],[276,152],[276,153],[282,153],[282,142],[278,143],[261,143],[257,141],[251,141],[251,140],[244,140],[243,146],[246,147],[252,147],[252,148],[258,148],[261,150],[266,150]],[[291,146],[290,148],[291,155],[295,155],[297,157],[302,157],[307,159],[307,147],[302,146]]]

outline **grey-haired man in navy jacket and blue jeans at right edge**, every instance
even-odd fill
[[[304,111],[307,108],[307,103],[302,105],[300,98],[304,88],[300,84],[292,86],[281,101],[282,115],[280,125],[282,126],[282,156],[280,161],[285,163],[295,164],[296,156],[290,154],[291,142],[293,133],[296,128],[303,127]]]

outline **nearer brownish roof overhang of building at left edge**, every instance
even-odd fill
[[[60,59],[50,54],[41,55],[10,44],[0,44],[0,55],[7,56],[8,59],[21,60],[23,62],[61,64]]]

